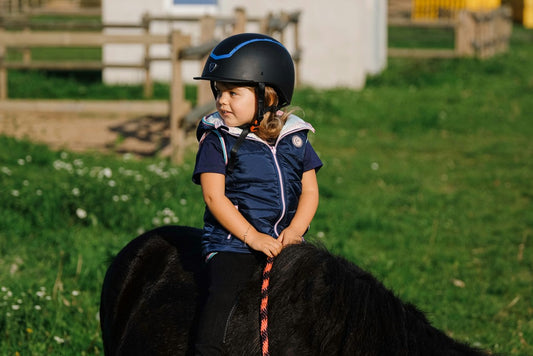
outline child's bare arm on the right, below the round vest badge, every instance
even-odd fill
[[[302,176],[302,194],[296,214],[289,226],[279,235],[279,240],[284,246],[302,242],[302,236],[307,231],[318,208],[318,198],[316,171],[311,169],[304,172]]]

